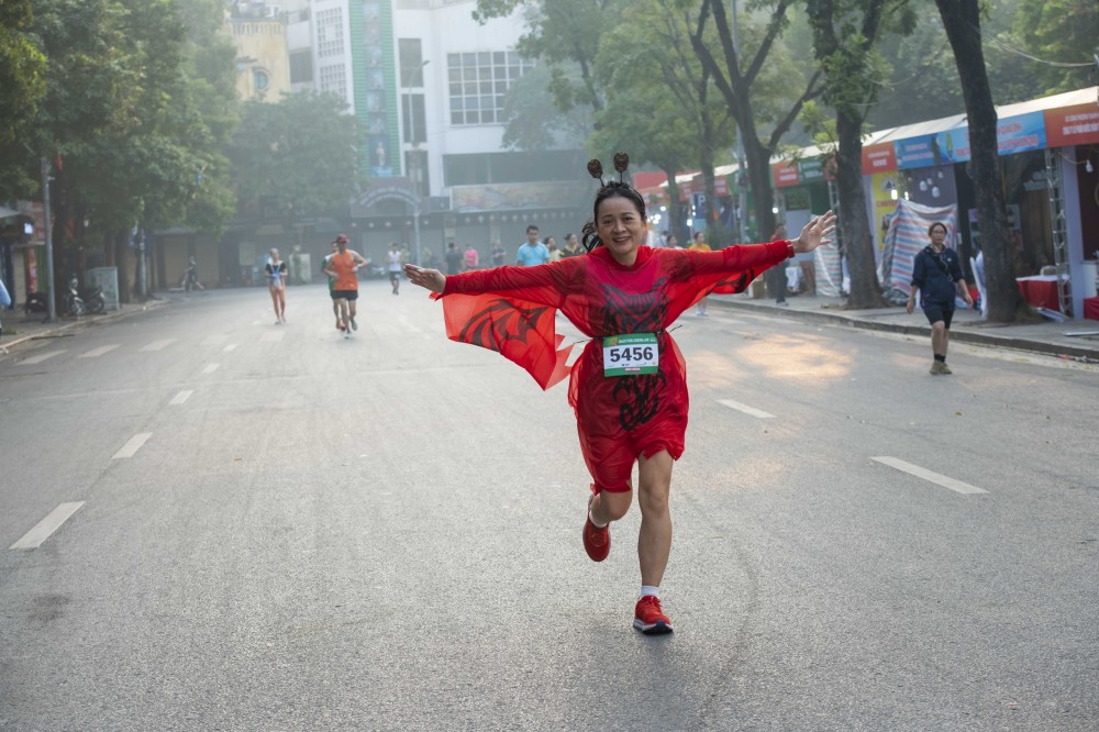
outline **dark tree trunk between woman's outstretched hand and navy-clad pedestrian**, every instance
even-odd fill
[[[844,110],[836,110],[835,131],[840,142],[835,154],[836,186],[840,193],[839,224],[843,251],[847,257],[847,271],[851,274],[847,307],[853,310],[886,308],[889,303],[881,297],[875,267],[874,237],[866,215],[861,118],[851,119]]]

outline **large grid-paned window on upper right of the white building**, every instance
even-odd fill
[[[447,54],[451,124],[500,122],[504,95],[532,68],[534,62],[521,58],[514,51]]]

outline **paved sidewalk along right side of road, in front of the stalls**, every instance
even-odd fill
[[[775,300],[752,299],[747,295],[712,295],[711,306],[751,311],[761,315],[779,315],[798,320],[865,328],[875,331],[890,331],[931,337],[931,325],[917,309],[912,314],[904,308],[879,310],[844,310],[844,298],[825,298],[814,295],[787,297],[787,307],[775,304]],[[685,317],[690,317],[688,311]],[[1072,335],[1072,334],[1077,335]],[[954,343],[977,343],[1018,351],[1044,353],[1070,358],[1081,363],[1099,364],[1099,321],[1069,320],[1055,323],[1044,320],[1039,323],[1003,325],[980,319],[976,311],[959,308],[951,323],[951,341]]]

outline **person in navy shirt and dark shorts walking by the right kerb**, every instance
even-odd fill
[[[954,297],[961,293],[970,308],[973,296],[965,286],[962,263],[957,252],[946,246],[946,224],[936,221],[928,226],[931,243],[915,255],[912,263],[912,292],[908,296],[909,313],[915,308],[915,293],[920,307],[931,323],[931,374],[953,374],[946,365],[946,348],[951,343],[951,321],[954,318]]]

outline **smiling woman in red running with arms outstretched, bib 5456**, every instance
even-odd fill
[[[617,159],[615,167],[623,171],[625,163]],[[601,166],[596,170],[600,177]],[[828,242],[834,222],[830,211],[789,242],[719,252],[651,248],[642,245],[644,200],[628,184],[610,182],[596,195],[593,220],[584,228],[588,256],[460,275],[406,265],[409,280],[441,293],[444,307],[448,295],[491,292],[556,308],[591,336],[573,365],[568,390],[593,480],[584,547],[596,562],[607,557],[608,526],[630,509],[637,463],[642,588],[633,624],[643,633],[671,632],[659,585],[671,550],[668,493],[673,464],[684,452],[688,396],[686,366],[667,328],[719,282],[743,290],[768,267]]]

